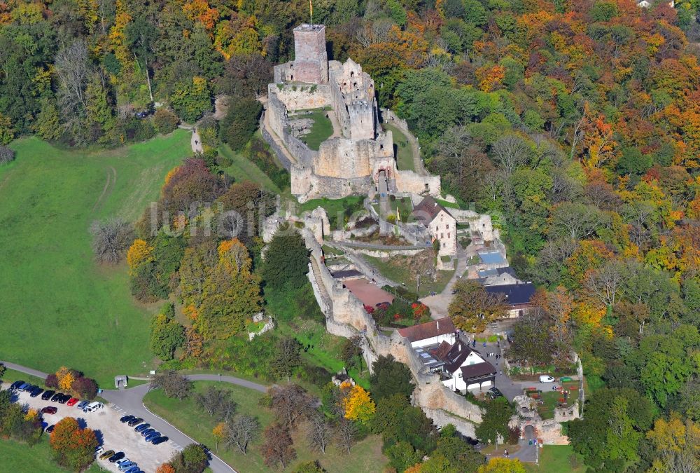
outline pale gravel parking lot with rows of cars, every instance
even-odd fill
[[[9,388],[9,383],[3,383],[3,389]],[[28,392],[16,392],[20,404],[27,404],[31,409],[41,411],[45,406],[55,406],[58,411],[55,414],[43,414],[43,420],[48,425],[54,425],[64,417],[74,417],[83,427],[89,427],[97,434],[99,444],[104,451],[123,451],[126,457],[137,462],[139,468],[146,473],[154,473],[162,463],[167,462],[179,449],[172,441],[160,445],[153,445],[144,441],[144,437],[134,432],[134,427],[129,427],[119,421],[125,413],[118,408],[112,408],[109,404],[96,412],[83,413],[75,406],[58,404],[57,402],[43,401],[41,395],[29,397]],[[121,411],[121,412],[120,412]],[[96,460],[104,469],[118,472],[117,466],[107,460]]]

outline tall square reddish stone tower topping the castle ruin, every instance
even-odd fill
[[[328,55],[325,26],[299,25],[294,29],[293,80],[311,84],[328,83]]]

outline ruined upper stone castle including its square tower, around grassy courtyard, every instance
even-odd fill
[[[393,138],[379,125],[374,81],[349,59],[328,61],[325,26],[294,29],[295,59],[274,67],[267,88],[263,136],[291,174],[292,193],[305,201],[387,191],[440,193],[440,177],[397,170]],[[294,133],[290,112],[328,107],[332,137],[318,151]]]

